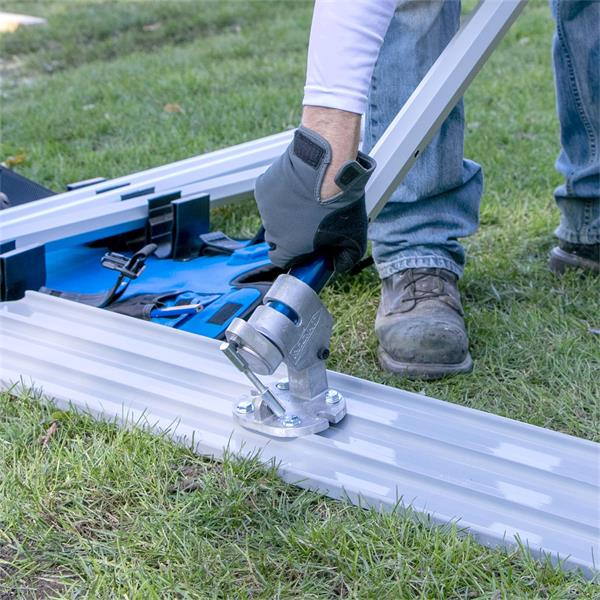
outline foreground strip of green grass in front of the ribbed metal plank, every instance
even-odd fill
[[[217,465],[30,398],[1,397],[0,439],[0,598],[593,597],[455,527],[333,502],[254,460]]]

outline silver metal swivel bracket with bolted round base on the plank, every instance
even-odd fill
[[[325,360],[333,318],[318,294],[280,275],[248,322],[236,319],[223,346],[254,390],[234,407],[244,427],[277,437],[323,431],[346,414],[344,398],[327,384]],[[271,374],[283,362],[288,377],[269,387],[255,373]]]

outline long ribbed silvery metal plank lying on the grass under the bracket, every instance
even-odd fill
[[[215,457],[260,450],[303,487],[380,509],[401,499],[482,543],[518,539],[587,576],[598,568],[600,444],[332,372],[348,416],[319,435],[268,438],[234,424],[247,382],[218,345],[36,292],[0,305],[5,387],[22,380]]]

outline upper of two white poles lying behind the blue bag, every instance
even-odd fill
[[[228,175],[229,173],[258,167],[262,164],[270,163],[274,158],[279,156],[290,143],[293,133],[293,131],[284,131],[258,140],[244,142],[167,165],[132,173],[131,175],[106,180],[70,192],[56,194],[48,198],[36,200],[36,202],[20,204],[0,213],[0,229],[5,221],[12,222],[13,219],[20,219],[57,207],[63,208],[69,206],[72,208],[74,205],[79,205],[77,202],[79,200],[93,199],[95,203],[98,203],[98,201],[119,200],[122,194],[134,189],[132,187],[133,184],[143,183],[144,187],[146,187],[149,182],[159,178],[162,179],[167,175],[173,176],[173,187],[176,187],[178,176],[189,169],[198,169],[199,178],[208,179],[215,175]],[[207,166],[213,167],[212,172],[206,172],[205,167]],[[102,190],[108,191],[102,192]],[[111,191],[112,193],[108,193]]]

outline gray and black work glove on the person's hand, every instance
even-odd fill
[[[327,140],[300,127],[285,153],[256,181],[256,203],[274,265],[286,269],[324,255],[344,272],[365,253],[365,185],[375,161],[359,152],[356,160],[344,163],[335,176],[342,191],[323,201],[321,182],[330,162]]]

